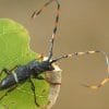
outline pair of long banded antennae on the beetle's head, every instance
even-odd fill
[[[43,8],[39,11],[35,11],[33,13],[33,15],[32,15],[32,19],[35,19],[52,1],[56,1],[58,7],[57,7],[57,13],[56,13],[56,20],[55,20],[55,27],[53,27],[53,31],[52,31],[52,37],[51,37],[51,40],[50,40],[50,48],[49,48],[49,53],[48,53],[48,61],[50,61],[50,63],[53,63],[53,62],[57,62],[57,61],[59,61],[61,59],[64,59],[64,58],[74,58],[74,57],[77,57],[77,56],[93,55],[93,53],[97,53],[97,52],[104,55],[106,57],[106,63],[107,63],[107,72],[108,72],[107,77],[104,78],[98,85],[86,85],[86,84],[83,84],[83,86],[88,87],[90,89],[98,89],[99,87],[104,86],[109,81],[109,59],[108,59],[108,55],[106,52],[104,52],[101,50],[94,50],[94,51],[86,51],[86,52],[74,52],[74,53],[63,55],[63,56],[58,57],[58,58],[56,58],[53,60],[50,60],[52,58],[53,43],[55,43],[57,27],[58,27],[58,23],[59,23],[60,3],[59,3],[58,0],[49,0],[48,2],[46,2],[43,5]]]

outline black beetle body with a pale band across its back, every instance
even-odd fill
[[[19,83],[24,83],[32,76],[37,78],[40,73],[52,70],[53,66],[49,61],[39,62],[37,60],[34,60],[9,72],[10,74],[1,81],[0,89],[12,87],[13,85]]]

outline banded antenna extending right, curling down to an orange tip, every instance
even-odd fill
[[[90,89],[98,89],[99,87],[104,86],[106,83],[109,82],[109,58],[108,58],[108,55],[106,52],[100,51],[100,50],[86,51],[86,52],[74,52],[74,53],[63,55],[61,57],[58,57],[58,58],[51,60],[51,63],[55,63],[55,62],[57,62],[57,61],[59,61],[61,59],[65,59],[65,58],[75,58],[77,56],[93,55],[93,53],[98,53],[98,52],[106,57],[106,64],[107,64],[108,75],[98,85],[86,85],[86,84],[83,84],[83,86],[88,87]]]

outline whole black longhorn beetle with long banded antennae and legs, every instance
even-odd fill
[[[36,100],[35,86],[34,86],[34,83],[32,81],[32,77],[35,77],[37,80],[46,80],[46,78],[39,77],[38,75],[46,72],[46,71],[55,70],[53,63],[61,60],[61,59],[65,59],[65,58],[75,58],[77,56],[93,55],[93,53],[99,52],[106,57],[106,63],[107,63],[108,74],[109,74],[108,55],[101,50],[94,50],[94,51],[86,51],[86,52],[74,52],[74,53],[70,53],[70,55],[62,55],[58,58],[52,58],[53,44],[55,44],[57,27],[58,27],[58,23],[59,23],[60,3],[58,0],[49,0],[48,2],[46,2],[44,4],[44,7],[38,12],[35,11],[32,15],[32,19],[35,19],[52,1],[55,1],[57,3],[57,15],[56,15],[55,27],[52,31],[52,36],[51,36],[51,40],[50,40],[50,47],[49,47],[49,52],[48,52],[47,59],[43,60],[41,62],[35,59],[25,65],[17,65],[17,66],[13,68],[12,70],[3,69],[0,74],[5,73],[7,76],[4,78],[2,78],[0,82],[0,90],[3,90],[3,89],[8,89],[8,90],[0,98],[0,100],[3,99],[10,92],[15,89],[15,87],[17,87],[17,84],[21,84],[21,83],[23,84],[24,82],[29,80],[31,85],[32,85],[32,90],[34,93],[35,104],[37,106],[39,106],[37,104],[37,100]],[[102,86],[108,81],[109,81],[109,77],[107,76],[98,85],[84,85],[84,86],[89,87],[92,89],[98,89],[100,86]],[[49,83],[53,84],[53,85],[61,84],[61,83],[51,83],[50,81],[49,81]]]

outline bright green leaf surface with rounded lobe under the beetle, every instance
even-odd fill
[[[38,58],[39,55],[29,48],[29,35],[19,23],[9,19],[0,19],[0,71],[3,68],[12,69],[15,65],[26,64]],[[5,74],[0,76],[2,80]],[[48,104],[49,85],[45,81],[33,78],[36,88],[37,102],[40,106]],[[0,90],[0,97],[7,89]],[[25,82],[0,100],[0,109],[40,109],[34,101],[31,84]]]

